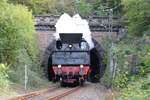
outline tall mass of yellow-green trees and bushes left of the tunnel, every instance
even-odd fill
[[[30,77],[28,86],[39,87],[44,80],[32,13],[6,0],[0,1],[0,13],[0,90],[10,83],[23,85],[25,65]]]

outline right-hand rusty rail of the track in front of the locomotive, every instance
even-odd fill
[[[69,95],[69,94],[71,94],[71,93],[77,91],[78,89],[80,89],[80,86],[75,87],[75,88],[72,88],[72,89],[70,89],[70,90],[67,90],[67,91],[65,91],[65,92],[63,92],[63,93],[61,93],[61,94],[58,94],[57,96],[54,96],[54,97],[49,98],[48,100],[59,100],[59,99],[65,97],[65,96],[67,96],[67,95]]]

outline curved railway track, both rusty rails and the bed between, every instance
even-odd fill
[[[67,96],[80,87],[75,88],[49,88],[40,91],[31,92],[22,96],[14,97],[8,100],[59,100],[60,98]]]

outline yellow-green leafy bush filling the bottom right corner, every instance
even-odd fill
[[[116,100],[149,100],[150,99],[150,74],[147,78],[140,78],[130,82],[121,90],[121,96]]]

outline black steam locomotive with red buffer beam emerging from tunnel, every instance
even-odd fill
[[[90,50],[82,33],[60,33],[52,53],[55,79],[61,86],[83,85],[90,71]]]

